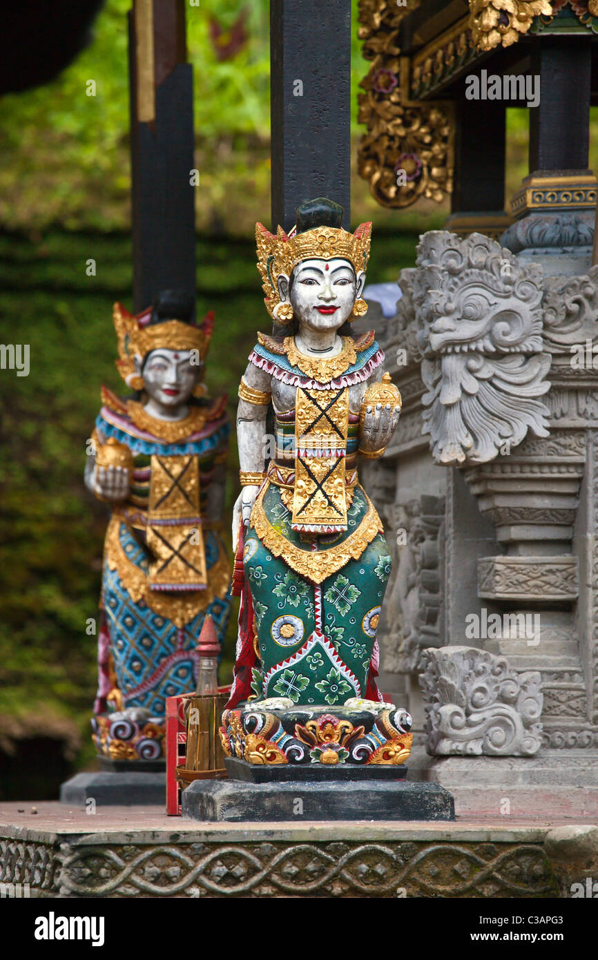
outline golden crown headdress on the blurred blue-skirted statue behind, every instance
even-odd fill
[[[158,348],[170,350],[198,350],[200,362],[205,362],[214,326],[214,312],[206,313],[202,324],[185,324],[180,320],[165,320],[150,324],[152,307],[133,315],[122,303],[112,308],[112,320],[118,340],[116,368],[128,387],[136,389],[135,357],[143,360]]]

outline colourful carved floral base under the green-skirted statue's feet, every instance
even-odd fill
[[[332,712],[280,698],[225,710],[220,735],[227,756],[249,763],[395,765],[409,756],[411,723],[394,704],[349,701]]]

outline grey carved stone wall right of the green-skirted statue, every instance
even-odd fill
[[[468,643],[505,657],[517,674],[538,671],[542,751],[598,752],[598,267],[542,276],[488,238],[464,247],[434,231],[399,285],[396,316],[379,337],[405,397],[383,461],[396,481],[387,483],[387,505],[396,528],[399,506],[443,498],[433,645]],[[505,371],[528,367],[525,396],[503,389]],[[409,538],[395,549],[401,624],[383,621],[379,639],[387,670],[407,679],[417,716],[420,655],[409,642],[416,594],[405,594],[401,579],[417,551]],[[471,640],[469,613],[539,615],[538,636]]]

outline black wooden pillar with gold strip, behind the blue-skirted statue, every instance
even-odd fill
[[[195,294],[193,75],[184,0],[133,0],[130,13],[133,303]]]

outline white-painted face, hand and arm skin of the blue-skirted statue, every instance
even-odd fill
[[[158,348],[148,353],[145,363],[135,357],[135,373],[143,378],[143,409],[155,420],[176,422],[189,413],[189,399],[202,367],[192,364],[191,350]],[[208,491],[209,516],[221,516],[225,493],[224,466],[218,465]],[[85,466],[85,486],[107,500],[126,500],[131,478],[124,467],[96,467],[90,456]]]

